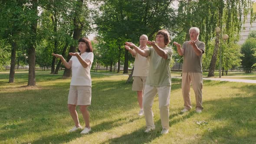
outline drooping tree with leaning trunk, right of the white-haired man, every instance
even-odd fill
[[[218,3],[218,5],[216,5]],[[239,33],[241,29],[242,23],[245,22],[246,16],[249,12],[253,14],[252,9],[252,0],[218,0],[216,1],[215,6],[217,7],[216,11],[212,11],[212,13],[218,14],[218,20],[216,26],[219,26],[222,31],[225,31],[226,34],[229,35],[229,39],[227,43],[233,43],[239,39]],[[244,15],[245,19],[242,21],[241,17]],[[255,14],[251,16],[251,21],[255,20]],[[224,27],[223,27],[223,24]],[[219,48],[220,33],[216,35],[216,43],[213,51],[213,56],[210,63],[210,69],[208,72],[208,76],[214,76],[216,60],[217,60],[217,52]]]

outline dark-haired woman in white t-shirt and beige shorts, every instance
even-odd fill
[[[92,43],[88,38],[80,38],[78,41],[79,52],[69,52],[71,59],[69,62],[62,55],[54,54],[56,58],[60,58],[63,65],[67,69],[72,69],[72,79],[69,88],[68,108],[69,113],[75,123],[75,126],[69,132],[82,129],[79,123],[78,115],[75,110],[76,105],[79,105],[80,111],[85,121],[85,128],[81,134],[87,134],[91,131],[90,115],[87,107],[91,105],[92,97],[92,80],[90,69],[93,62]]]

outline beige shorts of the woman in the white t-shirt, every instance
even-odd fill
[[[92,88],[87,85],[70,85],[68,104],[91,105]]]

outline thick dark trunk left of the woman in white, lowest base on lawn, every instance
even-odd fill
[[[32,11],[35,17],[37,17],[38,10],[38,2],[37,0],[33,0]],[[29,79],[28,86],[36,86],[36,30],[37,30],[37,18],[32,21],[31,29],[31,42],[28,49],[28,63],[29,63]]]

